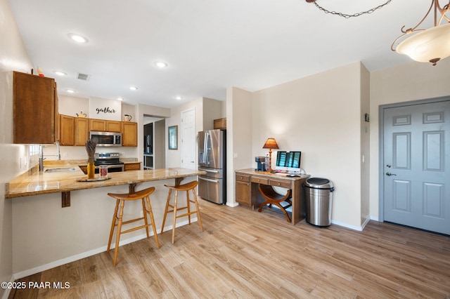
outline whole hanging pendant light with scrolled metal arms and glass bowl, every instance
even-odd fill
[[[434,23],[429,29],[417,29],[433,10]],[[450,56],[450,18],[446,13],[450,10],[450,1],[444,7],[439,6],[439,0],[432,0],[428,12],[416,27],[404,29],[401,27],[401,36],[397,37],[391,45],[392,51],[408,55],[418,62],[431,62],[436,65],[439,60]],[[441,25],[441,23],[444,23]],[[397,47],[396,44],[401,41]]]

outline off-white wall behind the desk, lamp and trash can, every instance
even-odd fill
[[[361,67],[355,62],[266,88],[252,102],[252,157],[267,154],[269,137],[280,150],[301,151],[302,168],[335,185],[333,222],[354,228],[361,227]]]

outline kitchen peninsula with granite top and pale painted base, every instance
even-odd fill
[[[160,232],[168,193],[164,185],[175,185],[181,180],[190,182],[196,175],[203,174],[203,171],[186,168],[162,168],[109,173],[109,180],[77,182],[77,178],[86,178],[78,166],[51,167],[75,170],[24,173],[6,184],[5,197],[13,205],[13,263],[17,277],[105,251],[115,209],[115,199],[109,197],[108,192],[127,193],[129,186],[135,184],[136,190],[155,187],[150,203],[156,230]],[[60,194],[63,192],[70,192],[71,202],[67,208],[61,208]],[[186,202],[184,193],[179,194],[180,202]],[[201,204],[200,201],[200,207]],[[142,211],[140,205],[140,201],[129,202],[124,219],[138,218]],[[186,224],[187,218],[181,218],[176,225]],[[172,230],[172,225],[166,225],[164,230]],[[145,230],[130,232],[127,239],[121,239],[120,246],[145,238]],[[152,241],[150,238],[148,247],[158,250]],[[170,246],[164,241],[160,241],[160,245]]]

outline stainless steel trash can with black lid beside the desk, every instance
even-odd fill
[[[306,194],[307,222],[316,226],[331,224],[333,182],[326,178],[309,178],[303,185]]]

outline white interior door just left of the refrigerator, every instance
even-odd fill
[[[195,109],[181,112],[181,167],[196,169]]]

